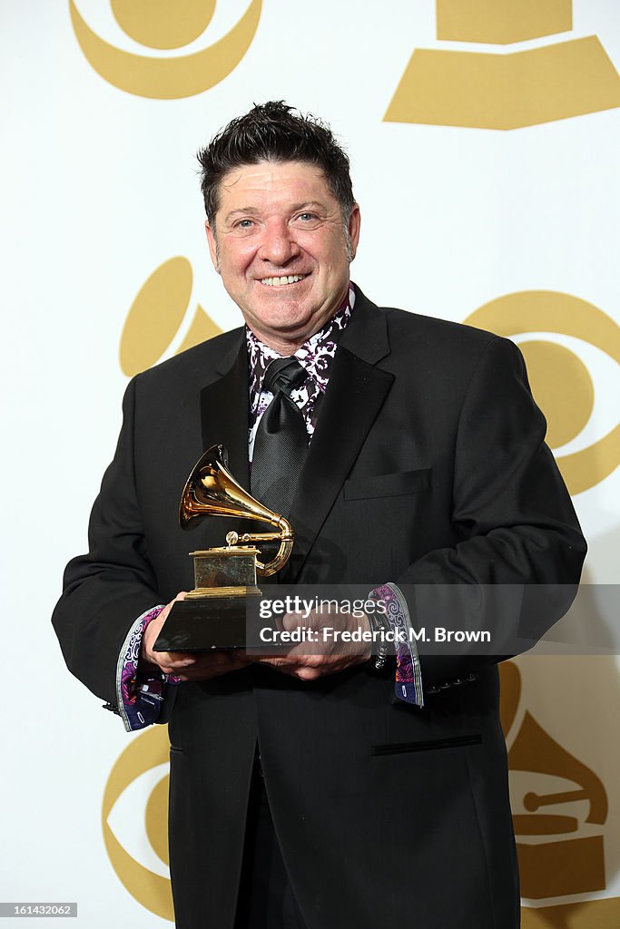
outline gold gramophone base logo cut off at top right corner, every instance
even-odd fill
[[[437,38],[513,43],[568,33],[571,0],[437,0]],[[416,48],[384,120],[517,129],[620,106],[596,35],[501,54]]]

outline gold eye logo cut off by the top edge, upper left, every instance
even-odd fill
[[[158,100],[192,97],[213,87],[237,67],[257,32],[261,0],[218,42],[175,58],[135,55],[110,45],[86,24],[69,0],[73,31],[86,60],[106,81],[129,94]],[[209,25],[216,0],[111,0],[121,29],[142,46],[190,45]]]

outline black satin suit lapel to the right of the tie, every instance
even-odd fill
[[[340,340],[310,442],[290,520],[296,543],[281,582],[297,580],[310,548],[381,409],[394,375],[376,368],[389,354],[387,323],[374,304],[356,292],[349,325]]]

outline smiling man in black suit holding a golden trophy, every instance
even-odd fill
[[[285,582],[363,584],[397,625],[448,624],[474,591],[497,656],[561,616],[585,555],[518,349],[350,286],[360,210],[331,132],[267,103],[201,163],[209,250],[245,327],[128,386],[90,554],[54,617],[65,659],[128,727],[169,718],[178,929],[515,927],[496,657],[414,647],[382,671],[363,644],[152,648],[191,586],[177,517],[191,465],[223,443],[260,486],[271,404],[300,412],[307,445],[280,491],[296,530]],[[269,370],[291,357],[288,398]],[[223,522],[204,520],[194,547],[221,544]]]

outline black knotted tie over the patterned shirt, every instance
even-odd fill
[[[252,456],[252,495],[275,513],[288,516],[297,488],[301,465],[308,451],[306,421],[291,391],[306,380],[295,358],[270,362],[263,389],[274,397],[258,424]]]

